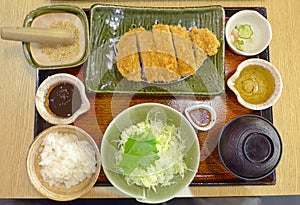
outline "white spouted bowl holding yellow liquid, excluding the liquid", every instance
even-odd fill
[[[250,103],[250,102],[247,102],[246,100],[244,100],[242,98],[241,94],[239,93],[239,91],[237,90],[237,88],[235,87],[236,80],[240,76],[241,72],[246,67],[251,66],[251,65],[261,66],[261,67],[265,68],[266,70],[269,70],[274,78],[274,84],[275,84],[274,92],[266,101],[258,103],[258,104],[253,104],[253,103]],[[283,89],[282,78],[281,78],[281,75],[280,75],[279,71],[277,70],[277,68],[266,60],[256,59],[256,58],[250,58],[248,60],[241,62],[238,65],[236,72],[227,80],[227,85],[228,85],[229,89],[231,89],[237,96],[238,102],[241,105],[243,105],[244,107],[249,108],[251,110],[263,110],[263,109],[267,109],[267,108],[273,106],[280,98],[280,96],[282,94],[282,89]],[[259,97],[259,95],[261,95],[260,92],[254,92],[254,93],[255,94],[253,94],[253,96],[256,95]]]

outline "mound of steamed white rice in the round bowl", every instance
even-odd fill
[[[51,133],[45,137],[39,165],[50,186],[67,189],[96,172],[96,154],[91,144],[74,134]]]

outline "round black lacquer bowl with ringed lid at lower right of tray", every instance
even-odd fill
[[[243,115],[224,126],[218,151],[229,172],[244,180],[259,180],[278,165],[282,142],[271,122],[257,115]]]

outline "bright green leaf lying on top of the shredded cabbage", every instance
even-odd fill
[[[131,136],[125,143],[123,157],[118,166],[125,175],[129,175],[135,168],[147,170],[159,159],[156,144],[151,130]]]

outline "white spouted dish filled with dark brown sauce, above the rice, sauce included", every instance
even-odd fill
[[[36,92],[35,104],[41,117],[51,124],[73,123],[90,109],[83,83],[67,73],[44,80]]]

